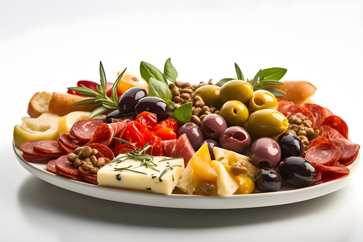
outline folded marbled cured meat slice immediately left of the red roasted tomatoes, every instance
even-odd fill
[[[99,143],[109,146],[115,140],[114,137],[121,137],[130,119],[118,123],[103,123],[95,130],[90,143]]]

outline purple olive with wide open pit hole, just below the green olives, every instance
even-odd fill
[[[242,153],[251,144],[251,137],[244,128],[231,126],[222,132],[219,144],[223,149]]]

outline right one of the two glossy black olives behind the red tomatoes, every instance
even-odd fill
[[[169,107],[163,99],[157,97],[141,98],[135,106],[136,115],[143,111],[148,111],[156,114],[158,121],[167,119],[169,116]]]

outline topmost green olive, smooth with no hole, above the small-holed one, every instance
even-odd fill
[[[219,92],[222,103],[237,100],[246,104],[252,97],[252,94],[252,85],[241,80],[232,80],[224,83]]]

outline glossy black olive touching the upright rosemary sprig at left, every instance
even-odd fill
[[[147,97],[147,91],[142,87],[131,87],[118,100],[118,110],[122,115],[135,112],[135,106],[141,98]]]

